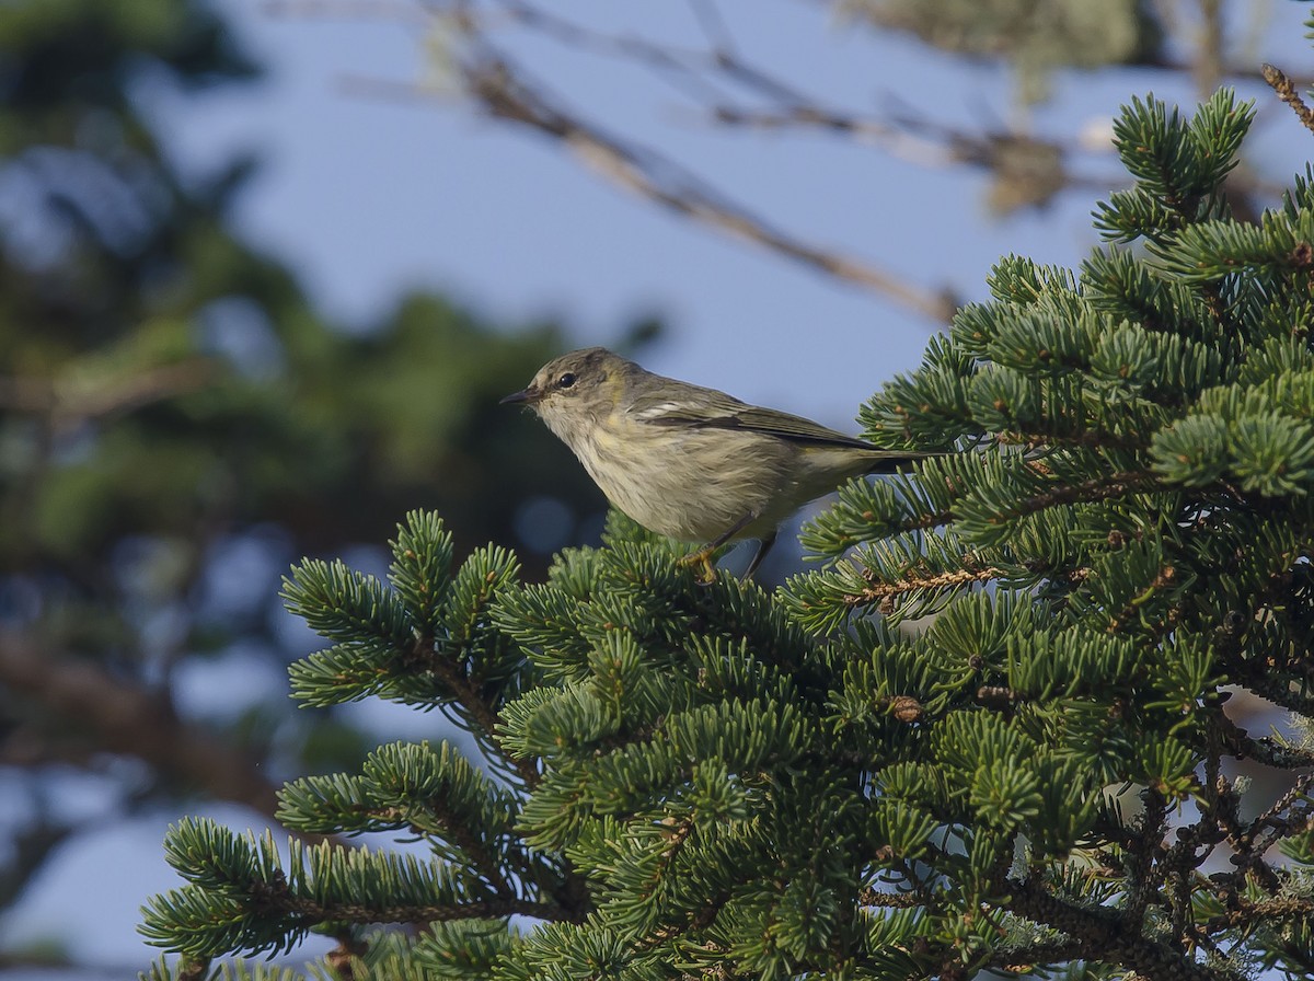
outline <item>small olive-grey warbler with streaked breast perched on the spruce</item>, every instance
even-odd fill
[[[607,499],[644,528],[702,544],[682,562],[716,579],[712,554],[738,538],[761,546],[778,525],[850,477],[892,473],[929,453],[876,449],[853,436],[723,391],[664,378],[606,348],[548,361],[524,403],[574,450]]]

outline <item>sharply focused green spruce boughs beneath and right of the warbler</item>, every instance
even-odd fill
[[[472,741],[288,784],[368,848],[175,826],[152,977],[311,930],[356,978],[1309,977],[1314,176],[1231,218],[1251,118],[1123,110],[1106,246],[1003,260],[862,408],[959,452],[846,485],[775,595],[619,515],[545,583],[424,513],[386,583],[297,567],[298,699]]]

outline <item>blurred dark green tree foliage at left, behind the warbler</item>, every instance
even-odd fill
[[[515,541],[532,566],[602,511],[497,404],[560,353],[556,324],[413,295],[335,330],[230,229],[255,162],[177,169],[141,96],[234,84],[258,71],[197,0],[0,5],[0,795],[22,801],[0,906],[75,829],[53,774],[121,776],[118,813],[263,806],[283,768],[357,755],[323,714],[289,724],[285,686],[205,720],[176,699],[234,651],[283,679],[304,653],[269,612],[289,562],[426,507],[459,552]]]

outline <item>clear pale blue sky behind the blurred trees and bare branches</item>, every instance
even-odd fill
[[[398,101],[346,91],[348,77],[431,80],[426,51],[440,38],[420,26],[273,17],[263,0],[217,5],[269,66],[265,81],[200,105],[146,97],[170,146],[197,172],[237,150],[260,154],[264,165],[244,196],[239,230],[290,261],[343,324],[381,315],[409,288],[449,292],[507,323],[557,315],[579,345],[606,343],[632,318],[657,313],[670,330],[646,359],[649,368],[848,431],[855,431],[851,420],[871,391],[916,366],[934,330],[879,295],[660,211],[560,147],[480,118],[459,98]],[[599,26],[625,17],[646,38],[702,39],[679,3],[577,0],[568,8]],[[950,125],[1020,112],[997,66],[845,28],[811,4],[728,0],[720,9],[742,56],[841,106],[861,112],[897,98]],[[1306,8],[1264,9],[1269,20],[1254,60],[1307,66],[1300,26]],[[1075,265],[1096,242],[1095,194],[1068,193],[1050,210],[995,219],[980,175],[817,134],[719,133],[671,89],[615,62],[532,39],[516,50],[591,117],[661,147],[777,225],[924,288],[947,285],[979,298],[1000,255]],[[1179,81],[1156,72],[1063,75],[1055,101],[1030,112],[1031,125],[1038,133],[1100,130],[1120,102],[1148,91],[1193,105],[1194,93]],[[1309,134],[1263,87],[1244,95],[1265,106],[1252,156],[1285,184],[1309,159]],[[1120,173],[1112,152],[1088,169]],[[91,809],[102,793],[74,777],[62,792]],[[210,813],[250,823],[237,810]],[[171,817],[95,822],[99,830],[64,848],[28,901],[0,921],[0,940],[62,935],[79,923],[76,957],[112,965],[110,973],[143,967],[154,953],[133,932],[137,907],[177,881],[160,858]]]

